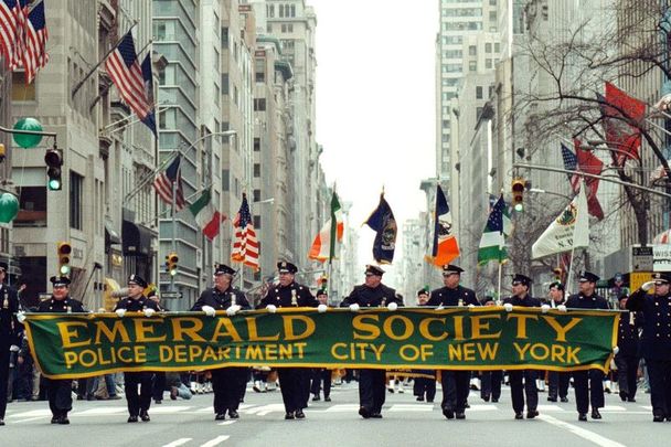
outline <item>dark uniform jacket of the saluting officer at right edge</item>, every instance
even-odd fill
[[[627,309],[643,315],[641,355],[650,360],[671,360],[671,294],[647,295],[638,289],[629,296]]]

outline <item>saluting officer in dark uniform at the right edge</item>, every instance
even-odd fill
[[[671,273],[656,273],[627,300],[627,309],[642,313],[641,354],[650,379],[652,421],[671,421]]]

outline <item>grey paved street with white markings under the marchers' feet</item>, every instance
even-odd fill
[[[484,403],[471,392],[466,421],[447,421],[436,403],[415,401],[412,390],[387,394],[383,419],[362,419],[358,414],[356,383],[336,386],[332,402],[310,403],[305,421],[284,421],[279,391],[247,390],[241,418],[215,422],[212,394],[191,401],[152,405],[150,423],[127,424],[125,401],[77,401],[71,425],[50,425],[46,402],[11,403],[7,426],[0,427],[2,445],[28,446],[649,446],[663,445],[671,423],[653,424],[649,394],[637,403],[606,395],[601,421],[579,423],[573,390],[569,403],[548,403],[540,393],[541,416],[514,421],[510,390],[501,401]],[[166,393],[168,397],[168,393]],[[661,443],[661,444],[660,444]]]

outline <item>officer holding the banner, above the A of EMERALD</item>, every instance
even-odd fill
[[[235,270],[225,264],[220,264],[214,270],[214,287],[204,290],[191,310],[202,310],[214,317],[217,310],[225,310],[233,317],[239,310],[252,307],[245,294],[232,286]],[[245,382],[247,369],[239,366],[219,368],[212,370],[212,389],[214,391],[214,421],[228,417],[237,419],[237,408],[242,398],[241,391]]]

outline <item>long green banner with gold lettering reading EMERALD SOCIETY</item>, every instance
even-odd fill
[[[217,312],[29,313],[51,379],[223,366],[608,371],[619,312],[502,307],[313,308]]]

